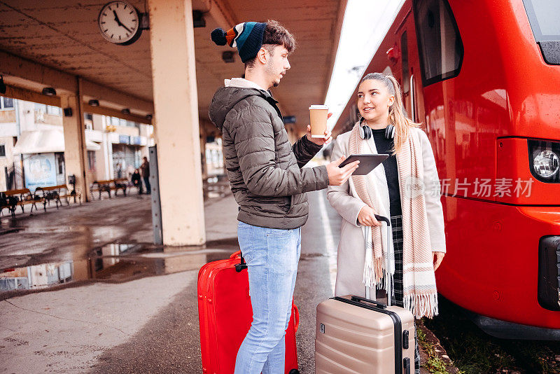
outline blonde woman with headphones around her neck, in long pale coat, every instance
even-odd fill
[[[330,205],[343,218],[335,294],[365,296],[369,287],[375,296],[374,290],[386,289],[386,279],[392,279],[393,305],[409,309],[416,318],[433,317],[437,314],[434,271],[445,254],[445,235],[430,142],[419,124],[403,113],[400,87],[393,76],[367,74],[358,88],[358,110],[362,119],[337,137],[332,160],[359,153],[390,157],[367,176],[351,176],[341,186],[328,188]],[[374,214],[391,217],[388,241]],[[390,277],[387,253],[394,263]],[[417,342],[415,361],[419,373]]]

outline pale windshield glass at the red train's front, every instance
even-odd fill
[[[536,41],[560,41],[560,1],[523,0]]]

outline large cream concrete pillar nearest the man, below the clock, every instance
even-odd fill
[[[191,0],[150,0],[163,244],[206,242]]]

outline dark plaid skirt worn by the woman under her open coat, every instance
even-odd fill
[[[393,277],[393,297],[391,305],[404,307],[404,292],[402,291],[402,216],[391,217],[393,231],[393,247],[395,249],[395,275]],[[416,338],[416,323],[414,323],[414,373],[420,373],[420,351]]]

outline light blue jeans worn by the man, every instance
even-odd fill
[[[301,230],[239,222],[237,237],[248,267],[253,323],[237,352],[235,374],[283,374]]]

